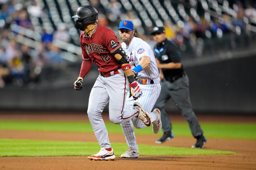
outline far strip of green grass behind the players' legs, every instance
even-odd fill
[[[120,125],[105,122],[108,133],[122,134]],[[256,139],[256,123],[210,123],[201,122],[206,137],[230,139]],[[175,136],[190,137],[188,123],[172,124]],[[93,133],[90,122],[51,122],[51,121],[4,121],[0,120],[2,130],[36,130],[36,131],[63,131]],[[136,134],[153,135],[152,128],[135,129]],[[157,135],[162,135],[160,132]]]

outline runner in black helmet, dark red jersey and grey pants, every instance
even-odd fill
[[[134,100],[138,99],[142,92],[134,79],[127,55],[115,33],[96,23],[98,11],[90,5],[81,6],[72,18],[78,18],[75,27],[83,31],[80,35],[83,62],[74,88],[82,90],[83,79],[91,69],[92,62],[97,64],[100,71],[90,93],[87,113],[101,149],[97,154],[88,156],[88,159],[114,160],[115,155],[101,116],[108,102],[109,119],[115,124],[121,124],[135,117],[146,126],[150,126],[151,119],[140,104],[136,105],[136,102],[133,107],[124,109],[129,88],[130,97],[132,96]]]

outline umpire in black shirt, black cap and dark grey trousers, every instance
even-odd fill
[[[206,138],[192,110],[188,76],[181,64],[179,49],[172,41],[167,40],[164,27],[154,27],[151,35],[153,35],[154,40],[157,42],[154,52],[157,67],[160,70],[159,77],[162,79],[161,92],[155,107],[161,111],[164,135],[156,143],[161,144],[174,137],[171,120],[163,108],[167,100],[172,98],[188,122],[191,133],[197,139],[196,144],[192,145],[192,148],[202,148],[206,143]]]

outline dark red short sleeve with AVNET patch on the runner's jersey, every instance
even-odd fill
[[[116,38],[116,34],[111,30],[106,31],[103,34],[103,43],[111,54],[113,54],[118,48],[122,47]]]

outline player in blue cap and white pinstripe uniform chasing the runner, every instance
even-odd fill
[[[142,105],[144,110],[149,113],[152,111],[161,91],[155,55],[148,43],[140,38],[134,37],[135,31],[132,21],[121,21],[118,30],[120,38],[123,41],[122,48],[128,55],[134,77],[137,76],[137,81],[143,92],[142,96],[138,99],[138,102]],[[133,98],[127,96],[124,108],[132,107],[133,103]],[[153,124],[153,132],[158,133],[162,127],[160,111],[155,109],[150,113],[150,117]],[[121,158],[139,157],[139,150],[132,122],[138,129],[146,127],[146,125],[138,119],[121,123],[125,140],[129,146],[127,151],[121,155]]]

